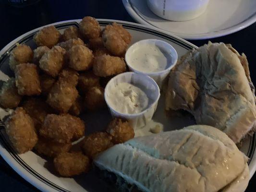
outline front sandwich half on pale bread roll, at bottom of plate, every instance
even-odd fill
[[[247,157],[206,125],[134,138],[94,164],[119,192],[244,192],[249,181]]]

